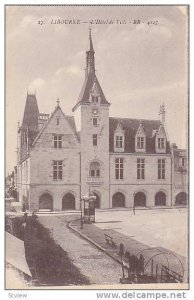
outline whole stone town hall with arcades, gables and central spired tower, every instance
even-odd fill
[[[85,80],[72,108],[79,132],[59,101],[51,115],[43,114],[27,94],[18,129],[19,201],[30,210],[78,210],[90,191],[102,209],[185,205],[187,153],[170,145],[164,105],[160,120],[110,117],[94,54],[90,31]]]

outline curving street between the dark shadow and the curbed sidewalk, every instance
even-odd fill
[[[73,217],[73,216],[72,216]],[[118,284],[121,277],[121,266],[105,253],[96,249],[91,243],[76,236],[67,227],[68,216],[39,216],[39,221],[53,230],[53,238],[68,252],[80,272],[91,284]],[[75,219],[78,216],[74,216]]]

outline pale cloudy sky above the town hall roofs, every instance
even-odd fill
[[[58,19],[71,24],[52,24]],[[59,98],[64,113],[73,114],[89,27],[110,116],[158,119],[164,103],[170,142],[186,148],[187,22],[184,6],[7,6],[7,172],[16,165],[27,91],[36,93],[40,113],[52,113]]]

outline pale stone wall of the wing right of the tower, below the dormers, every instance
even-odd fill
[[[124,174],[122,180],[115,179],[115,159],[124,158]],[[145,179],[137,179],[137,159],[145,159]],[[165,179],[158,179],[158,159],[164,158],[166,162]],[[142,192],[146,196],[146,206],[155,206],[155,196],[159,192],[166,195],[166,206],[172,205],[171,185],[171,155],[110,155],[110,203],[115,193],[120,191],[125,195],[125,206],[133,207],[135,195]],[[163,206],[163,205],[161,205]],[[112,207],[112,205],[111,205]]]

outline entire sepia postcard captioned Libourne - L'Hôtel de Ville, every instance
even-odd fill
[[[189,288],[188,23],[5,6],[6,289]]]

